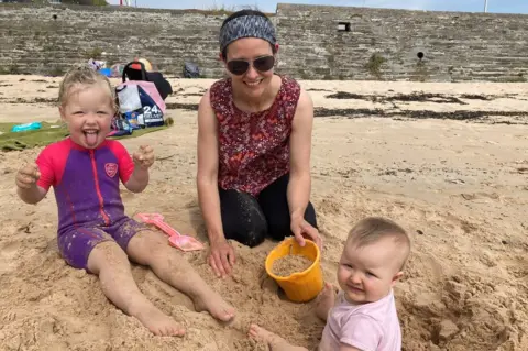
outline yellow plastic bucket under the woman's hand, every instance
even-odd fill
[[[302,255],[314,263],[304,271],[290,276],[277,276],[273,274],[275,260],[289,254]],[[321,254],[319,248],[311,240],[306,240],[306,245],[300,246],[292,237],[282,241],[266,257],[266,272],[283,288],[286,297],[294,303],[306,303],[315,298],[323,287],[322,271],[320,265]]]

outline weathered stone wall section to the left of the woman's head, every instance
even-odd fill
[[[54,18],[56,17],[56,19]],[[0,67],[61,74],[102,53],[108,63],[147,57],[180,75],[185,61],[219,76],[218,31],[226,14],[120,7],[0,3]]]

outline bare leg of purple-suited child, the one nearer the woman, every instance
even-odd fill
[[[234,317],[234,308],[204,282],[178,250],[168,245],[165,234],[140,231],[130,239],[127,253],[139,264],[148,265],[162,281],[188,295],[197,310],[208,310],[222,321]]]

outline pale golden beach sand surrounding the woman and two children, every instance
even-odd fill
[[[56,108],[45,99],[56,97],[57,81],[0,76],[0,121],[56,120]],[[168,112],[175,125],[123,141],[131,151],[148,143],[158,157],[143,194],[123,189],[127,212],[161,212],[200,240],[197,121],[187,108],[211,81],[172,79],[176,94],[167,102],[180,107]],[[386,216],[413,235],[406,275],[395,288],[406,351],[528,350],[527,85],[301,84],[317,114],[327,116],[315,121],[311,158],[326,281],[336,283],[351,226],[365,216]],[[339,91],[359,97],[327,97]],[[479,111],[494,112],[479,118]],[[185,253],[237,307],[237,319],[227,326],[196,312],[187,297],[134,265],[146,296],[188,328],[182,339],[152,336],[106,299],[97,277],[59,257],[53,194],[37,206],[16,198],[15,172],[38,152],[0,154],[0,349],[265,350],[246,338],[250,322],[317,345],[323,323],[314,316],[315,301],[289,303],[266,277],[264,260],[276,244],[271,241],[255,249],[235,244],[238,264],[226,279],[212,274],[205,251]]]

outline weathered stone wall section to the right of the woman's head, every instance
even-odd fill
[[[282,4],[277,28],[283,65],[302,77],[528,77],[528,15]]]

